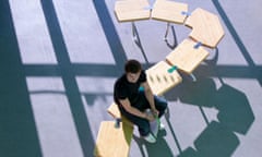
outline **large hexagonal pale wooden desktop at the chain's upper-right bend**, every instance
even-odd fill
[[[192,28],[191,38],[211,48],[215,48],[225,35],[218,16],[200,8],[188,16],[184,24]]]

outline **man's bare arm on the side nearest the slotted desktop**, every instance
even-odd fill
[[[141,84],[144,87],[145,97],[150,102],[151,110],[154,114],[158,116],[158,110],[155,108],[154,95],[147,82]]]

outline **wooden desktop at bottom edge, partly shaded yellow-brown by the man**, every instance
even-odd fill
[[[96,138],[95,157],[128,157],[133,135],[133,126],[114,121],[103,121]]]

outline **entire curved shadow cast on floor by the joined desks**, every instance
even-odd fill
[[[217,88],[212,78],[199,78],[174,90],[181,102],[218,110],[218,122],[209,122],[201,110],[207,126],[194,141],[196,149],[189,147],[180,152],[179,157],[230,157],[239,145],[235,132],[245,135],[252,125],[254,116],[245,93],[221,82],[222,86]]]

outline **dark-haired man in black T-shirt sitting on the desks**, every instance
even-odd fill
[[[142,70],[139,61],[126,62],[124,74],[115,83],[114,99],[121,114],[139,128],[140,135],[145,141],[155,143],[156,137],[151,133],[150,121],[164,114],[167,101],[153,95],[146,82],[145,71]],[[150,109],[153,114],[146,113],[146,109]],[[160,129],[164,129],[163,124]]]

